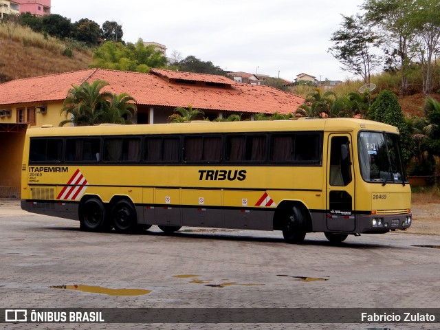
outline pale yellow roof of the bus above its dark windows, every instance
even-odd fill
[[[176,133],[244,133],[270,131],[387,131],[399,133],[395,126],[353,118],[299,118],[297,120],[259,120],[243,122],[195,122],[173,124],[100,124],[97,126],[43,127],[28,129],[30,136],[140,135]]]

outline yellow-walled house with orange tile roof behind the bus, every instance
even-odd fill
[[[28,128],[58,126],[65,120],[63,101],[72,85],[107,81],[102,91],[126,92],[137,101],[135,124],[168,121],[176,107],[200,109],[210,120],[239,114],[292,113],[304,98],[267,86],[235,83],[224,76],[151,69],[148,74],[87,69],[11,80],[0,84],[0,197],[19,197],[21,154]]]

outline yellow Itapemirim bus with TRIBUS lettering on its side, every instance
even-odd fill
[[[29,129],[23,210],[87,231],[158,225],[349,234],[406,230],[394,126],[349,118]]]

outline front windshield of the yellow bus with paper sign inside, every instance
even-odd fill
[[[399,135],[380,132],[359,134],[360,170],[367,182],[405,184],[406,174],[401,162]]]

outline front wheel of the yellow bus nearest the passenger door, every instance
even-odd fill
[[[283,236],[287,243],[303,243],[306,234],[306,217],[298,206],[292,206],[285,213]]]

